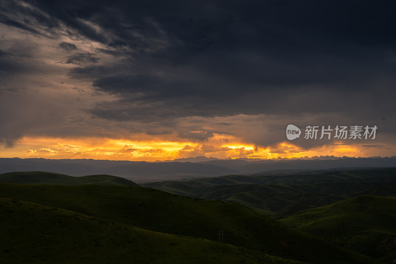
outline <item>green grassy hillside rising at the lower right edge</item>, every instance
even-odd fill
[[[396,198],[359,196],[280,221],[373,258],[396,260]]]

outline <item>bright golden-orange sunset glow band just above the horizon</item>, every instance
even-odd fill
[[[251,159],[301,158],[333,155],[336,157],[369,157],[364,147],[354,145],[322,145],[309,150],[290,142],[267,147],[214,138],[208,142],[191,141],[152,141],[111,138],[51,138],[23,137],[13,148],[6,148],[1,156],[12,158],[51,158],[51,159],[101,159],[129,161],[165,161],[197,156]]]

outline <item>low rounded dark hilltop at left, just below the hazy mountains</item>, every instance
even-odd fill
[[[90,175],[73,177],[63,174],[47,172],[15,172],[0,175],[0,182],[10,183],[28,183],[28,184],[62,184],[62,185],[79,185],[79,184],[101,184],[101,185],[125,185],[139,186],[135,182],[116,176],[110,175]]]

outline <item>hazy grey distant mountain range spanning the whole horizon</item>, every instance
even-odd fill
[[[207,159],[207,158],[206,158]],[[209,160],[197,162],[134,162],[93,159],[0,158],[0,174],[45,171],[70,176],[114,175],[135,182],[177,180],[275,170],[396,167],[396,157],[339,158],[329,160]]]

